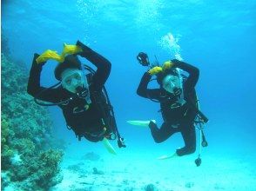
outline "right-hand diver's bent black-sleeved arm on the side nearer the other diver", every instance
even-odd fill
[[[159,99],[159,89],[147,89],[147,85],[151,79],[152,76],[148,72],[145,72],[138,84],[137,94],[145,98]]]

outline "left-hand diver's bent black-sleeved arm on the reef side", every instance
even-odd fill
[[[40,95],[40,92],[46,88],[40,86],[40,76],[44,63],[37,64],[36,59],[38,56],[39,55],[35,54],[33,58],[27,92],[33,97],[37,97],[46,102],[59,102],[59,98],[57,97],[59,92],[57,92],[57,89],[47,89],[47,91],[44,91],[44,94]]]

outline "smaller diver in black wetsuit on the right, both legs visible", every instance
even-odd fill
[[[178,69],[189,74],[185,81]],[[154,75],[157,75],[160,89],[147,89]],[[145,72],[138,85],[138,95],[160,102],[164,123],[161,128],[155,122],[148,123],[154,141],[164,142],[174,133],[181,133],[185,147],[177,149],[175,155],[189,155],[196,149],[194,119],[197,111],[192,104],[197,99],[194,87],[198,79],[199,69],[179,60],[172,60],[165,62],[162,68],[157,66]]]

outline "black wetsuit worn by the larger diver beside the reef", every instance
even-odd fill
[[[84,99],[75,98],[67,105],[58,105],[64,114],[65,121],[71,127],[78,137],[84,136],[91,142],[98,142],[103,139],[99,137],[104,128],[103,114],[98,108],[97,97],[101,95],[104,82],[106,82],[111,72],[111,63],[100,56],[97,52],[88,47],[84,47],[83,52],[79,54],[97,67],[96,73],[92,76],[90,82],[91,105],[88,110],[75,114],[73,109],[77,106],[83,106]],[[61,102],[67,100],[75,94],[64,89],[62,86],[56,89],[47,89],[42,94],[45,88],[40,85],[40,76],[44,64],[36,63],[37,56],[34,57],[32,67],[30,69],[30,78],[28,82],[28,93],[37,99],[46,102]]]

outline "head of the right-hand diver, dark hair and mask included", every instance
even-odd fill
[[[174,95],[179,95],[182,89],[182,82],[177,69],[168,69],[163,73],[159,73],[157,81],[161,88]]]

